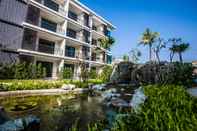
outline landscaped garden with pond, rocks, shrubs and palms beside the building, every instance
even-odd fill
[[[40,65],[20,63],[1,66],[2,92],[64,90],[64,85],[88,89],[88,92],[0,97],[0,106],[15,119],[30,114],[36,116],[35,120],[41,131],[197,130],[197,98],[187,91],[195,86],[193,66],[191,63],[184,63],[182,56],[189,44],[177,38],[164,40],[159,37],[159,33],[150,29],[143,33],[139,44],[149,46],[149,62],[139,64],[138,60],[143,54],[140,50],[132,50],[131,55],[124,55],[122,62],[113,67],[104,66],[100,75],[94,70],[84,68],[80,80],[72,80],[71,69],[63,69],[59,80],[44,80],[45,69]],[[164,48],[170,50],[169,62],[162,62],[160,59]],[[156,61],[152,60],[152,53],[157,56]],[[179,61],[173,62],[176,54]],[[6,126],[3,125],[3,120],[12,121],[5,114],[2,115],[2,112],[0,129]],[[29,123],[26,119],[22,121],[23,127],[19,128],[21,130],[28,127]],[[6,124],[11,127],[13,123]]]

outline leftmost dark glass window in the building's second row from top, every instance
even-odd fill
[[[44,19],[44,18],[42,18],[42,20],[41,20],[41,27],[45,28],[45,29],[48,29],[50,31],[53,31],[53,32],[56,32],[56,30],[57,30],[57,24],[56,23],[51,22],[51,21],[49,21],[47,19]]]

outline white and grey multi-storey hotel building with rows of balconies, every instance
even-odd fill
[[[115,27],[78,0],[0,0],[0,62],[32,62],[56,79],[80,63],[102,72],[111,64],[109,49],[99,44]]]

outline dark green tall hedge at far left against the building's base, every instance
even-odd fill
[[[1,65],[0,79],[39,79],[46,76],[46,69],[32,63]]]

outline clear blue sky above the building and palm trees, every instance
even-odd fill
[[[121,56],[132,48],[142,52],[141,62],[148,60],[148,48],[138,41],[146,28],[157,31],[162,38],[181,37],[190,43],[183,55],[185,61],[197,60],[197,0],[80,0],[95,12],[112,22],[116,45],[114,56]],[[169,59],[163,50],[162,60]]]

